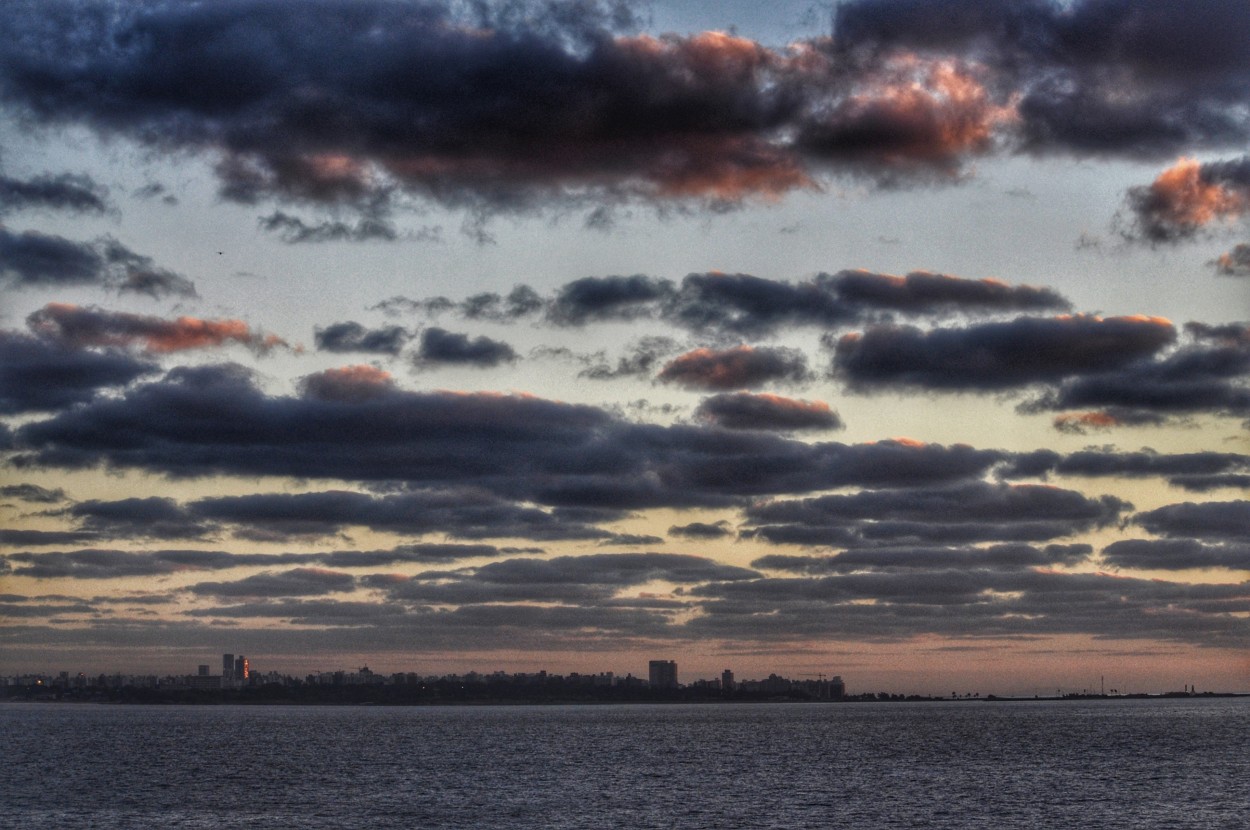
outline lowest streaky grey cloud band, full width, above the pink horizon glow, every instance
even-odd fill
[[[288,624],[276,631],[266,628],[269,654],[301,639],[332,648],[340,642],[336,632],[349,650],[406,652],[418,648],[415,642],[539,650],[620,646],[622,641],[909,640],[918,634],[976,639],[1078,634],[1236,648],[1248,634],[1241,614],[1250,602],[1245,582],[1192,585],[1019,568],[768,578],[694,556],[556,558],[496,565],[399,579],[296,568],[235,582],[198,582],[186,594],[248,601],[192,608],[170,620],[116,614],[105,598],[5,601],[6,614],[14,618],[35,611],[54,619],[11,626],[6,640],[10,646],[31,638],[30,642],[45,645],[211,648],[214,638],[220,638],[221,620],[268,618]],[[649,579],[691,586],[678,604],[611,596]],[[388,601],[351,599],[345,594],[352,584],[372,586]],[[206,625],[204,618],[215,622]],[[246,640],[251,630],[240,626],[232,629],[235,635]]]

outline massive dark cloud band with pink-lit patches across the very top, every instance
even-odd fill
[[[395,188],[502,209],[732,202],[826,170],[958,176],[999,146],[1140,156],[1250,135],[1240,4],[939,8],[844,4],[832,38],[775,49],[620,34],[595,4],[10,2],[0,95],[46,124],[214,152],[231,199],[374,212]]]

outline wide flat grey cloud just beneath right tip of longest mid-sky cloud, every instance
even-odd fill
[[[745,511],[750,536],[779,544],[968,544],[1044,541],[1105,528],[1131,505],[1074,490],[981,481],[925,490],[758,502]]]

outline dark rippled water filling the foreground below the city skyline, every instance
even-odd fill
[[[4,828],[1250,828],[1250,699],[0,705]]]

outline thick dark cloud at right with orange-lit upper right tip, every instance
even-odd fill
[[[1175,340],[1175,328],[1156,318],[1018,318],[929,331],[872,326],[838,340],[834,369],[860,390],[999,390],[1120,369]]]

